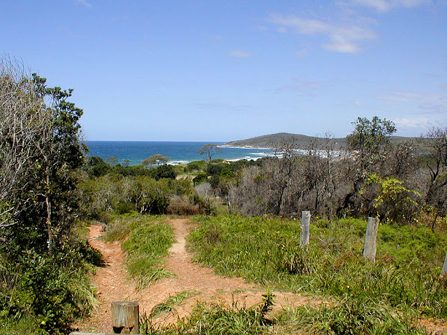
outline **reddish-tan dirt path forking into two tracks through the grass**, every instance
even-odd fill
[[[90,244],[98,248],[105,258],[105,267],[98,268],[94,276],[99,299],[96,313],[82,322],[74,325],[80,331],[111,332],[110,302],[138,301],[140,315],[147,313],[168,297],[179,292],[190,292],[190,297],[175,306],[175,313],[162,315],[156,322],[175,322],[177,317],[188,315],[197,301],[216,302],[253,306],[261,302],[265,288],[261,285],[246,283],[243,278],[227,278],[217,276],[210,268],[200,267],[192,262],[191,254],[185,249],[185,237],[191,227],[187,219],[173,218],[168,221],[173,226],[177,242],[170,248],[170,256],[166,258],[166,269],[175,274],[172,278],[163,278],[145,290],[137,290],[135,281],[129,279],[126,273],[125,256],[121,244],[106,243],[100,239],[103,232],[101,226],[94,225],[90,229]],[[290,293],[274,292],[276,308],[285,305],[298,306],[306,304],[308,297],[291,295]]]

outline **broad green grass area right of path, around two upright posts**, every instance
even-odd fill
[[[242,276],[293,292],[330,295],[434,317],[447,316],[447,282],[440,267],[447,239],[425,228],[379,227],[376,263],[362,258],[366,222],[342,219],[311,225],[299,246],[300,222],[279,218],[198,217],[189,236],[195,260],[219,274]],[[400,244],[400,247],[397,247]]]

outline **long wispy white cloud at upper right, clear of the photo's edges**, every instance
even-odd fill
[[[270,22],[277,24],[281,32],[289,29],[298,34],[322,34],[329,38],[323,47],[335,52],[360,52],[360,43],[377,38],[374,31],[358,24],[337,24],[321,20],[304,19],[295,15],[271,15]]]

